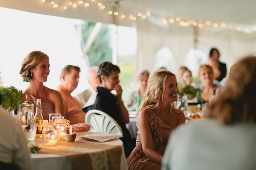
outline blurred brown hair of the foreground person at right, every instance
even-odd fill
[[[207,117],[223,124],[256,123],[256,57],[246,57],[232,66],[219,95],[207,107]]]

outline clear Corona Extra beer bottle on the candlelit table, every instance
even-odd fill
[[[36,100],[36,115],[35,115],[35,124],[36,124],[36,136],[42,136],[43,130],[43,116],[42,116],[42,103],[41,99]]]

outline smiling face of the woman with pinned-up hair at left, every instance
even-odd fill
[[[50,63],[49,63],[49,58],[44,59],[41,61],[39,64],[36,65],[34,69],[31,69],[31,73],[33,74],[32,76],[32,81],[39,81],[39,82],[46,82],[47,77],[50,73]]]

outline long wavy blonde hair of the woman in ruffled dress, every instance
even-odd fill
[[[168,76],[174,76],[176,78],[171,71],[165,69],[156,70],[149,75],[146,92],[140,104],[140,111],[146,107],[154,109],[159,105],[160,98],[162,97],[163,99],[164,94],[164,91],[162,94],[161,90],[165,88],[164,84]],[[170,113],[177,114],[175,107],[176,102],[171,102]]]

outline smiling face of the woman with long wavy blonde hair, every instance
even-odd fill
[[[162,87],[162,95],[164,102],[177,101],[177,94],[179,92],[177,79],[174,76],[168,76]]]

